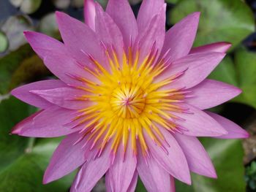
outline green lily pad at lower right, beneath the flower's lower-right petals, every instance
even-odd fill
[[[245,191],[243,148],[236,139],[201,139],[217,170],[217,180],[192,174],[192,185],[176,182],[176,192]]]

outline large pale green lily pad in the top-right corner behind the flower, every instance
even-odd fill
[[[192,12],[201,12],[195,46],[231,42],[236,47],[255,31],[251,9],[241,0],[181,0],[170,14],[177,23]]]

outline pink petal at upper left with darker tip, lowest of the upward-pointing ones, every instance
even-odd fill
[[[94,78],[78,66],[77,61],[72,58],[63,43],[36,32],[24,32],[26,39],[33,50],[42,58],[45,66],[50,69],[63,82],[72,85],[82,83],[67,74],[74,74],[94,80]]]

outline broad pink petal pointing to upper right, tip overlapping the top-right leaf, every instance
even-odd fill
[[[167,31],[162,55],[170,50],[168,53],[170,62],[189,54],[197,32],[199,17],[200,12],[194,12]]]

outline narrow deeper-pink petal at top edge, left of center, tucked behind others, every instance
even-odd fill
[[[95,31],[95,3],[94,0],[84,0],[83,7],[84,21],[93,31]]]

